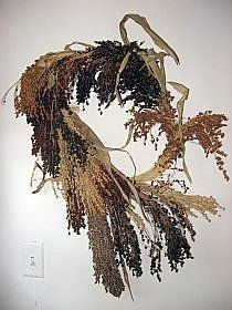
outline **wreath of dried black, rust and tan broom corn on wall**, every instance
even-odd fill
[[[129,42],[128,19],[143,27],[159,51]],[[123,44],[73,42],[64,51],[42,55],[27,68],[14,94],[17,116],[25,115],[33,127],[32,155],[40,157],[33,173],[40,169],[42,180],[33,193],[50,182],[66,202],[68,230],[80,234],[87,224],[96,282],[115,297],[125,286],[131,293],[128,270],[143,275],[141,247],[150,257],[150,273],[160,281],[162,254],[175,271],[192,258],[188,235],[194,240],[196,231],[189,217],[200,213],[210,220],[209,215],[221,208],[213,197],[187,194],[184,180],[166,177],[167,170],[178,170],[191,182],[186,143],[197,142],[205,156],[214,155],[229,179],[222,159],[226,154],[221,149],[226,117],[207,111],[183,121],[189,90],[169,82],[181,95],[176,105],[166,82],[165,58],[178,64],[176,52],[138,14],[126,14],[119,29]],[[72,50],[76,43],[85,49]],[[115,101],[122,108],[130,106],[125,124],[128,138],[122,148],[104,146],[76,113],[73,102],[82,108],[91,106],[92,92],[101,114]],[[140,138],[156,148],[164,135],[164,152],[149,170],[128,177],[112,164],[110,151],[126,152],[131,140]]]

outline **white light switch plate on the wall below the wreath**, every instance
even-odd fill
[[[44,249],[39,241],[22,246],[22,273],[25,277],[44,278]]]

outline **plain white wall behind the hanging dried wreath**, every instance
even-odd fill
[[[63,49],[74,40],[118,40],[118,22],[127,12],[146,16],[178,52],[181,66],[176,68],[168,60],[168,79],[191,90],[186,115],[212,110],[232,118],[230,0],[1,0],[0,95],[40,54]],[[130,22],[128,25],[133,40],[144,40],[138,27]],[[116,111],[110,120],[99,118],[95,113],[94,108],[88,111],[89,124],[107,145],[120,145],[125,140],[123,116]],[[225,132],[224,149],[232,154],[231,121]],[[30,133],[23,118],[14,118],[9,95],[7,105],[0,107],[1,310],[232,309],[231,184],[223,182],[214,163],[207,161],[201,149],[188,147],[193,192],[213,195],[226,210],[211,224],[194,219],[194,260],[178,273],[171,273],[165,266],[161,283],[148,271],[140,280],[133,280],[136,301],[131,302],[128,292],[118,300],[94,285],[86,235],[67,235],[62,199],[55,199],[49,186],[38,195],[31,194]],[[139,169],[147,167],[150,153],[139,153],[137,146],[131,149]],[[129,170],[129,163],[122,155],[114,155],[114,161]],[[232,176],[230,161],[226,164]],[[44,242],[44,279],[22,276],[21,247],[32,240]]]

